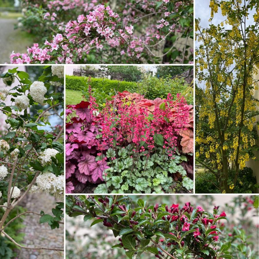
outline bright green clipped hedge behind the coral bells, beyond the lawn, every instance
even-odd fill
[[[72,90],[81,90],[81,86],[87,86],[88,77],[66,76],[66,88]],[[103,79],[103,78],[91,78],[92,88],[102,88],[102,90],[109,94],[114,93],[115,89],[118,92],[138,92],[138,86],[135,82],[122,81],[118,84],[117,80]]]

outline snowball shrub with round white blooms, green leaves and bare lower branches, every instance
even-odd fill
[[[40,216],[39,223],[48,222],[52,229],[64,224],[63,202],[58,202],[52,210],[54,217],[43,211],[27,211],[6,222],[10,212],[29,192],[42,189],[63,199],[64,148],[61,136],[64,128],[58,126],[53,133],[48,133],[38,127],[51,125],[48,119],[51,115],[60,113],[58,116],[62,118],[64,67],[45,66],[39,81],[34,82],[26,72],[17,68],[9,69],[0,77],[7,86],[16,84],[11,90],[0,89],[3,101],[0,111],[1,116],[6,117],[7,129],[0,139],[0,232],[22,248],[63,251],[62,248],[21,246],[4,230],[28,213]],[[15,105],[5,104],[9,100]],[[28,108],[35,109],[35,115],[28,113]]]

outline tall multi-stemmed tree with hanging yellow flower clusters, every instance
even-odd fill
[[[254,90],[259,68],[258,0],[210,1],[209,28],[196,20],[196,161],[222,193],[242,184],[239,170],[256,159]],[[213,24],[220,7],[224,21]],[[248,19],[249,18],[249,19]],[[252,18],[252,20],[251,20]]]

